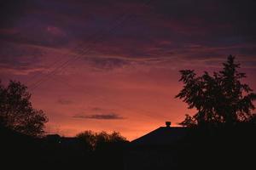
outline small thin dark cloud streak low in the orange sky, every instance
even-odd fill
[[[107,114],[93,114],[93,115],[75,115],[74,118],[81,119],[100,119],[100,120],[115,120],[115,119],[125,119],[123,116],[119,116],[115,113]]]

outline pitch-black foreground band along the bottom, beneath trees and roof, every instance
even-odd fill
[[[215,129],[189,128],[172,144],[133,145],[79,138],[34,138],[1,127],[1,167],[36,169],[252,169],[256,128],[240,125]],[[101,137],[102,138],[102,137]],[[152,154],[153,153],[153,154]],[[132,161],[136,159],[137,161]],[[137,163],[138,162],[138,163]],[[132,167],[132,168],[131,168]],[[144,168],[147,167],[147,168]]]

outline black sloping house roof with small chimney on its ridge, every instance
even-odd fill
[[[166,127],[159,127],[142,137],[131,141],[133,145],[165,145],[183,139],[188,133],[186,127],[171,127],[171,122],[166,122]]]

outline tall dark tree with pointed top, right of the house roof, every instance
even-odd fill
[[[253,89],[241,79],[245,73],[237,71],[240,64],[235,63],[235,57],[230,55],[222,71],[213,72],[210,76],[207,71],[201,77],[196,77],[195,71],[180,71],[180,82],[183,89],[176,98],[183,99],[189,109],[195,108],[195,116],[186,115],[180,124],[193,126],[235,125],[239,122],[251,122],[254,109],[253,100],[256,94]]]

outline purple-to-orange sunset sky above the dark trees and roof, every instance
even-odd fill
[[[256,89],[256,1],[1,0],[0,79],[25,83],[48,133],[136,139],[187,109],[179,70],[236,55]],[[255,111],[254,111],[255,112]]]

